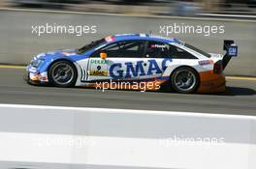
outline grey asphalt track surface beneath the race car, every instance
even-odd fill
[[[28,85],[22,68],[0,68],[0,103],[256,115],[256,80],[227,78],[221,95],[184,95]]]

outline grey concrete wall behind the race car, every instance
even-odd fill
[[[61,48],[78,48],[87,42],[120,33],[160,33],[160,26],[177,25],[224,26],[225,33],[211,34],[173,34],[208,52],[223,53],[223,40],[232,39],[239,45],[239,57],[232,59],[226,74],[256,76],[256,21],[216,18],[184,18],[168,16],[127,16],[106,14],[70,14],[61,12],[29,12],[27,10],[0,10],[0,63],[26,65],[31,58],[41,52]],[[96,33],[77,36],[74,34],[32,33],[32,26],[39,25],[88,25],[96,26]]]

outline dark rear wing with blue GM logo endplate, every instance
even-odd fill
[[[223,56],[222,59],[222,68],[223,70],[227,67],[230,59],[232,57],[238,56],[238,45],[235,44],[233,40],[224,40],[223,50],[226,50],[226,54]]]

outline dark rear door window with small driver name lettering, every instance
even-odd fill
[[[163,42],[148,42],[145,50],[146,58],[170,58],[170,45]]]

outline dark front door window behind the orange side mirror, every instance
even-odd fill
[[[95,52],[92,57],[99,57],[100,52],[105,52],[110,58],[139,58],[142,56],[143,48],[144,42],[140,41],[115,42],[101,48],[99,51]]]

